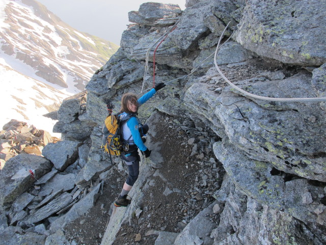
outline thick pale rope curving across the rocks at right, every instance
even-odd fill
[[[323,102],[326,101],[326,97],[315,97],[315,98],[274,98],[274,97],[265,97],[265,96],[260,96],[260,95],[256,95],[256,94],[252,94],[249,93],[247,91],[244,91],[243,89],[235,86],[233,83],[231,83],[222,73],[222,71],[220,70],[218,63],[216,62],[216,57],[218,56],[218,52],[219,52],[219,45],[220,42],[224,36],[224,32],[227,30],[228,26],[229,26],[230,22],[227,24],[227,26],[225,27],[220,40],[218,42],[218,46],[216,46],[216,51],[215,51],[215,55],[214,55],[214,64],[216,69],[218,70],[219,74],[221,75],[221,77],[233,88],[235,88],[236,90],[238,90],[239,92],[246,94],[247,96],[253,97],[255,99],[259,99],[259,100],[264,100],[264,101],[280,101],[280,102]]]

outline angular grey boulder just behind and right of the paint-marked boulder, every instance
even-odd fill
[[[50,160],[56,169],[63,171],[76,161],[79,145],[79,142],[67,140],[49,143],[44,147],[42,155]]]

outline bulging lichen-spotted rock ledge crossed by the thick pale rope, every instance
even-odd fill
[[[248,81],[239,83],[243,84],[242,87],[249,85]],[[272,86],[284,88],[279,92],[281,97],[318,96],[313,92],[309,72],[301,72],[283,80],[270,80],[268,85],[265,81],[251,83],[247,91],[269,96]],[[252,159],[270,162],[285,173],[325,181],[325,172],[322,170],[324,157],[319,154],[325,150],[323,137],[326,135],[322,126],[324,111],[320,106],[316,107],[315,103],[273,105],[231,95],[228,89],[216,97],[207,88],[194,84],[186,92],[185,102],[189,106],[208,104],[207,109],[213,112],[211,116],[220,118],[232,144],[244,150]],[[309,92],[303,93],[305,89]],[[275,113],[270,113],[272,108],[277,109]]]

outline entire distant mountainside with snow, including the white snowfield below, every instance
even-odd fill
[[[117,48],[34,0],[0,0],[0,128],[14,118],[52,132],[55,121],[41,115],[83,91]]]

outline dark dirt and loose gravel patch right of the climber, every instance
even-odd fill
[[[150,188],[143,191],[143,212],[139,218],[132,218],[131,225],[123,224],[113,243],[115,245],[154,244],[157,235],[147,235],[152,230],[180,233],[185,223],[195,217],[203,206],[214,201],[209,193],[217,189],[213,187],[216,179],[211,178],[205,186],[198,185],[198,176],[204,173],[202,161],[197,158],[198,155],[189,157],[193,146],[187,142],[191,136],[174,124],[172,119],[161,114],[161,120],[155,125],[159,130],[156,130],[153,143],[162,142],[160,153],[164,159],[163,166],[153,169],[152,176],[147,179]],[[208,159],[213,157],[213,153],[208,155]],[[211,171],[211,166],[204,168],[207,168],[207,172]],[[210,191],[207,191],[208,188]],[[138,242],[135,241],[137,234],[141,235]]]

